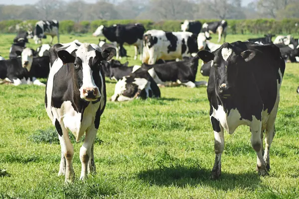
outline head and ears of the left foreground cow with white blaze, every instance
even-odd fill
[[[101,97],[99,87],[104,81],[101,74],[101,61],[110,60],[115,54],[115,48],[106,48],[102,51],[98,46],[88,43],[83,43],[71,54],[66,50],[57,53],[64,64],[73,65],[74,84],[80,91],[80,98],[87,101],[95,101]]]

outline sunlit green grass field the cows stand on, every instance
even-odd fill
[[[13,37],[0,35],[5,58]],[[249,37],[228,35],[227,41]],[[90,35],[61,35],[61,42],[74,39],[98,41]],[[30,42],[29,47],[37,47]],[[127,49],[130,65],[140,64],[132,59],[134,48]],[[207,81],[200,73],[196,79]],[[106,82],[111,97],[115,82]],[[45,88],[0,85],[0,198],[299,198],[298,85],[299,64],[287,64],[267,177],[255,171],[251,133],[241,126],[233,135],[225,132],[222,176],[210,180],[214,135],[206,88],[176,87],[161,88],[158,100],[108,101],[95,144],[97,174],[79,181],[82,143],[74,143],[73,184],[57,177],[60,145],[44,108]]]

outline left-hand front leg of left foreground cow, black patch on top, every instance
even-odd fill
[[[65,168],[65,182],[71,182],[74,177],[75,173],[72,166],[72,159],[74,156],[74,147],[71,143],[71,140],[68,135],[68,130],[64,127],[64,125],[61,125],[60,122],[56,119],[55,121],[55,128],[58,133],[58,138],[60,141],[61,146],[61,156],[64,155],[64,159],[60,160],[60,169],[58,175],[62,175],[64,173]],[[65,160],[65,166],[64,166],[64,160]]]

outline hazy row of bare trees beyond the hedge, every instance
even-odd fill
[[[113,19],[253,19],[299,18],[298,0],[39,0],[31,5],[0,5],[0,20],[113,20]]]

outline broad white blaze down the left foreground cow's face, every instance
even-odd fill
[[[96,45],[97,46],[97,45]],[[97,46],[99,48],[99,46]],[[82,60],[82,73],[83,73],[83,84],[81,86],[80,90],[80,98],[86,99],[86,96],[84,95],[85,89],[95,89],[98,90],[98,87],[96,86],[93,76],[92,76],[92,70],[90,68],[89,59],[91,57],[96,56],[96,52],[94,51],[94,48],[89,43],[84,43],[83,45],[79,46],[78,50],[76,51],[76,56],[79,57]],[[100,92],[97,92],[96,98],[101,97]]]

